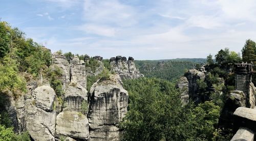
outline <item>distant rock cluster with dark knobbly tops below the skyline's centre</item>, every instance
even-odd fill
[[[117,56],[110,59],[111,71],[119,74],[121,79],[136,79],[144,77],[135,67],[134,59],[129,57],[129,60],[125,57]]]

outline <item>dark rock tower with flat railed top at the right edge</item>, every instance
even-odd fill
[[[236,90],[243,91],[246,94],[246,106],[251,107],[250,103],[252,101],[255,101],[254,94],[251,94],[250,92],[252,87],[251,74],[255,73],[255,71],[253,71],[253,64],[247,64],[247,63],[235,64],[234,72],[236,73],[235,88]]]

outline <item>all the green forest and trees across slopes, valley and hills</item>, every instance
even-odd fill
[[[135,61],[143,78],[123,80],[123,87],[129,92],[128,112],[119,124],[123,131],[123,140],[230,140],[231,129],[218,126],[223,104],[230,91],[234,89],[234,78],[226,72],[228,66],[240,62],[254,62],[256,58],[255,42],[248,39],[241,54],[221,49],[206,59],[177,59],[166,61]],[[65,53],[67,59],[73,57]],[[79,55],[79,58],[89,57]],[[97,62],[90,58],[86,64],[97,67]],[[105,69],[98,76],[87,78],[87,89],[110,75],[109,60],[103,60]],[[209,76],[205,81],[198,81],[201,95],[209,98],[201,103],[190,101],[183,104],[180,91],[175,88],[177,79],[188,69],[208,65]],[[255,64],[255,62],[254,62]],[[11,93],[19,97],[27,92],[26,82],[38,79],[41,74],[49,80],[58,95],[62,84],[58,80],[61,71],[49,69],[51,51],[44,46],[25,38],[25,33],[13,28],[7,22],[0,22],[0,140],[30,140],[28,132],[17,134],[3,107],[4,97]],[[225,86],[218,86],[218,78],[225,80]],[[255,76],[252,81],[256,82]],[[208,93],[208,87],[220,88],[219,93]],[[224,133],[225,130],[225,133]]]

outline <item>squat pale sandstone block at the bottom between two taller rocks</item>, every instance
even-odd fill
[[[77,111],[62,111],[57,116],[56,137],[68,136],[74,139],[89,139],[89,123],[86,116]]]

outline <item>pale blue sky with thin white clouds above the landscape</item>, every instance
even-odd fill
[[[104,59],[206,58],[256,40],[253,0],[0,0],[0,18],[52,52]]]

